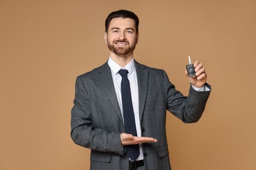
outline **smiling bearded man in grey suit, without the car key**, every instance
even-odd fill
[[[196,76],[188,78],[191,87],[185,97],[175,90],[165,71],[133,58],[139,40],[136,14],[112,12],[105,28],[110,58],[77,77],[72,139],[91,149],[91,169],[171,169],[166,110],[185,123],[200,119],[211,88],[202,63],[194,63]]]

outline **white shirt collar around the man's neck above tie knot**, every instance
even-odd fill
[[[131,73],[135,69],[134,59],[131,59],[131,61],[127,65],[125,65],[125,67],[121,67],[110,57],[108,58],[108,65],[110,66],[110,69],[113,71],[115,75],[118,73],[120,69],[127,69],[127,71],[129,72],[128,75],[131,75]]]

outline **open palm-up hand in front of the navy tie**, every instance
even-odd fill
[[[136,137],[131,134],[121,133],[121,144],[129,145],[129,144],[139,144],[139,143],[156,143],[158,140],[152,137]]]

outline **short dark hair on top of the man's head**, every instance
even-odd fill
[[[111,12],[105,21],[106,33],[108,33],[108,27],[110,26],[110,22],[113,18],[131,18],[132,20],[135,21],[136,33],[139,33],[139,18],[135,13],[129,10],[117,10],[117,11]]]

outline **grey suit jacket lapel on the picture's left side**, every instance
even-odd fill
[[[102,65],[98,73],[98,77],[100,78],[100,82],[102,83],[102,88],[104,89],[104,92],[106,92],[106,95],[109,97],[114,109],[117,112],[117,115],[119,116],[119,119],[121,120],[121,122],[123,122],[121,110],[119,108],[119,104],[116,98],[116,91],[114,88],[112,73],[110,67],[108,66],[108,63]]]

